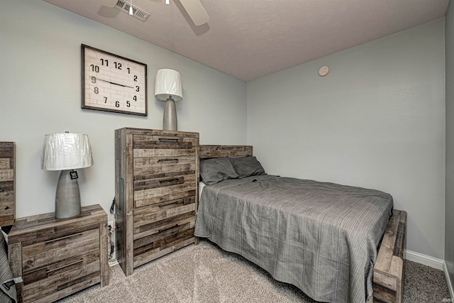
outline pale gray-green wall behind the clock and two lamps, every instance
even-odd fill
[[[115,194],[114,130],[162,128],[156,71],[178,70],[180,131],[201,143],[246,143],[246,83],[44,1],[0,0],[0,141],[16,142],[16,216],[54,211],[58,172],[40,169],[45,133],[87,133],[94,166],[79,170],[82,204],[109,211]],[[80,108],[80,45],[148,65],[148,116]],[[226,127],[228,126],[228,127]],[[109,216],[112,219],[112,216]]]

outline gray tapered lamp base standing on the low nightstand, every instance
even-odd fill
[[[71,179],[72,170],[62,170],[55,194],[55,218],[67,219],[80,214],[80,192],[77,179]]]

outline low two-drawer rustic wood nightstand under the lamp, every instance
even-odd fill
[[[54,302],[101,283],[109,284],[107,214],[84,206],[71,219],[54,213],[17,219],[8,236],[8,256],[19,302]]]

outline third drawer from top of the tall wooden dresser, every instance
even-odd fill
[[[194,196],[195,188],[195,174],[135,181],[134,207]]]

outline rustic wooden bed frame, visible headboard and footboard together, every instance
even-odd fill
[[[248,155],[253,155],[253,147],[249,145],[199,146],[201,160]],[[402,302],[405,233],[406,211],[394,209],[378,247],[377,260],[373,268],[373,302]]]

